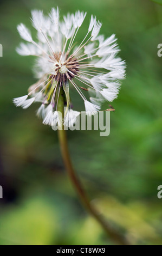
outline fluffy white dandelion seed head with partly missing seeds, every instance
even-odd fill
[[[121,82],[125,79],[125,61],[118,57],[120,51],[115,35],[100,35],[102,23],[91,16],[87,34],[77,42],[86,13],[76,11],[60,17],[59,8],[51,9],[48,16],[42,10],[31,11],[31,22],[37,30],[34,40],[22,23],[17,30],[27,44],[21,43],[16,51],[22,56],[36,56],[35,77],[39,80],[30,86],[28,95],[15,98],[16,106],[28,108],[41,102],[37,116],[45,125],[61,125],[57,109],[60,92],[63,92],[66,112],[64,125],[73,126],[80,112],[73,111],[70,88],[74,88],[85,105],[87,115],[101,109],[103,101],[118,97]],[[61,89],[62,88],[62,89]]]

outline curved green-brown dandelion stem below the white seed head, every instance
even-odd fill
[[[64,113],[63,108],[64,108],[64,100],[63,100],[63,90],[62,90],[59,97],[59,103],[58,103],[58,111],[62,113],[62,116]],[[96,219],[96,221],[100,223],[100,225],[106,231],[107,235],[110,237],[111,240],[113,240],[118,245],[129,245],[129,242],[126,240],[126,238],[118,234],[118,231],[114,230],[111,227],[111,225],[109,225],[109,223],[105,220],[105,218],[103,218],[103,216],[94,208],[94,206],[90,204],[90,200],[88,199],[87,194],[85,193],[85,190],[83,190],[81,182],[77,177],[77,174],[75,173],[75,170],[73,168],[73,164],[70,159],[70,154],[68,149],[67,135],[64,129],[59,130],[59,142],[60,142],[62,158],[64,161],[64,166],[66,167],[68,176],[72,181],[72,184],[75,187],[75,190],[79,195],[82,204],[85,206],[87,211]]]

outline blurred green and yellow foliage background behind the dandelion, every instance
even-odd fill
[[[127,230],[134,244],[162,245],[162,199],[157,197],[162,185],[162,58],[157,56],[162,7],[149,0],[1,1],[0,245],[112,244],[69,182],[57,132],[36,118],[36,104],[26,111],[12,104],[36,81],[34,58],[15,51],[22,41],[16,26],[23,22],[31,28],[31,9],[48,13],[57,5],[61,15],[88,12],[80,39],[90,15],[96,15],[101,33],[116,34],[127,63],[127,78],[113,102],[110,135],[68,131],[75,169],[89,197],[110,222]]]

